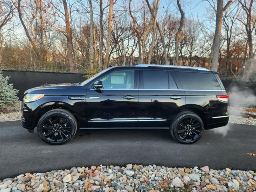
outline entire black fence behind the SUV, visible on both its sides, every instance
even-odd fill
[[[86,79],[83,77],[84,75],[86,74],[3,70],[3,76],[10,76],[9,83],[20,90],[18,94],[20,100],[27,89],[44,84],[82,82]],[[231,88],[236,86],[238,90],[250,90],[256,94],[255,82],[231,80],[222,80],[222,82],[227,92],[230,92]]]

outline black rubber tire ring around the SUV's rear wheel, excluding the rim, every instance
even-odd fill
[[[183,118],[187,118],[187,117],[196,118],[196,120],[198,120],[198,122],[200,123],[200,126],[202,128],[202,131],[200,132],[198,137],[195,140],[190,141],[190,142],[182,140],[180,138],[180,136],[178,135],[178,132],[177,132],[178,124],[180,123],[180,121]],[[174,137],[174,139],[176,141],[178,141],[180,143],[183,143],[183,144],[192,144],[194,142],[197,142],[201,138],[201,136],[204,132],[204,122],[202,121],[202,119],[197,114],[195,114],[193,112],[182,112],[182,113],[180,113],[180,114],[178,114],[177,116],[174,117],[174,120],[172,121],[171,126],[170,126],[170,132],[171,132],[172,136]]]

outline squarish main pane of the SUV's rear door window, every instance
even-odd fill
[[[160,70],[144,70],[143,85],[144,89],[169,89],[168,72]]]

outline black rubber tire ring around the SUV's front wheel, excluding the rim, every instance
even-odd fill
[[[64,118],[66,118],[69,122],[70,122],[70,131],[71,134],[68,136],[68,138],[66,138],[65,140],[61,141],[61,142],[51,142],[49,140],[47,140],[42,133],[42,126],[43,126],[43,122],[45,121],[46,118],[48,118],[49,116],[53,116],[53,115],[59,115],[62,116]],[[64,144],[68,141],[70,141],[76,134],[76,129],[77,129],[77,124],[76,124],[76,120],[74,120],[74,118],[67,112],[65,112],[64,110],[51,110],[49,112],[46,112],[44,115],[42,115],[42,117],[40,118],[40,120],[38,121],[37,124],[37,132],[38,132],[38,136],[40,137],[40,139],[42,139],[44,142],[51,144],[51,145],[61,145]]]

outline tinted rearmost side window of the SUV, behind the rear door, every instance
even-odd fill
[[[188,90],[221,90],[214,74],[176,72],[182,87]]]

